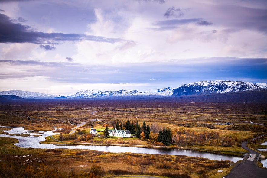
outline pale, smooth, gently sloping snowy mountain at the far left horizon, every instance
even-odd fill
[[[2,91],[0,95],[16,95],[21,98],[54,98],[55,95],[45,94],[45,93],[37,93],[37,92],[28,92],[21,90],[10,90],[10,91]]]

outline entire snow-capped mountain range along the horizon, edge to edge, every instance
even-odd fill
[[[21,90],[2,91],[0,96],[6,98],[6,95],[16,95],[21,98],[99,98],[99,97],[128,97],[128,96],[144,96],[144,97],[168,97],[168,96],[190,96],[190,95],[210,95],[228,92],[240,92],[267,89],[266,83],[251,83],[230,80],[213,80],[201,81],[184,84],[176,89],[171,87],[157,89],[155,91],[139,92],[138,90],[119,90],[119,91],[92,91],[85,90],[77,92],[70,96],[55,96],[37,92],[27,92]],[[14,96],[13,96],[14,97]],[[6,98],[7,99],[7,98]]]

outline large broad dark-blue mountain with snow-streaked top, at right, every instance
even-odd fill
[[[263,84],[262,84],[263,85]],[[239,92],[262,89],[251,82],[213,80],[184,84],[174,90],[172,96],[209,95],[226,92]]]

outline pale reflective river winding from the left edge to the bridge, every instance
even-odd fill
[[[4,127],[4,126],[0,126]],[[27,137],[2,134],[0,137],[12,137],[18,139],[19,143],[15,145],[21,148],[43,148],[43,149],[60,149],[60,148],[69,148],[69,149],[87,149],[87,150],[97,150],[104,152],[112,153],[141,153],[141,154],[169,154],[169,155],[186,155],[190,157],[204,157],[211,160],[231,160],[237,162],[242,160],[242,157],[221,155],[206,153],[194,150],[184,150],[184,149],[158,149],[158,148],[139,148],[139,147],[123,147],[123,146],[94,146],[94,145],[60,145],[60,144],[40,144],[40,141],[44,141],[45,137],[50,135],[55,135],[53,131],[30,131],[24,130],[24,128],[12,128],[11,130],[5,131],[8,134],[19,134],[25,135],[29,134]],[[33,136],[38,135],[38,137]]]

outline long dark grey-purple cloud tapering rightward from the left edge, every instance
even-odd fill
[[[20,20],[22,20],[22,18]],[[85,34],[44,33],[33,31],[30,26],[14,23],[11,18],[1,13],[0,27],[0,43],[60,44],[60,42],[63,41],[81,40],[107,43],[121,41],[119,38],[105,38]]]

